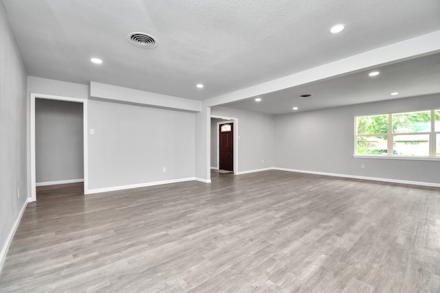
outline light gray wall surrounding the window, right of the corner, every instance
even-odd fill
[[[440,96],[328,108],[275,117],[275,166],[395,180],[440,183],[439,161],[359,159],[354,153],[354,117],[440,107]],[[361,164],[365,165],[361,169]]]

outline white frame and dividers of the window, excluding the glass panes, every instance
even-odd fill
[[[415,110],[401,113],[384,113],[384,114],[373,114],[373,115],[357,115],[354,117],[354,158],[373,158],[373,159],[404,159],[404,160],[427,160],[427,161],[440,161],[440,156],[437,156],[437,134],[440,131],[435,131],[435,111],[440,109],[430,109],[430,110]],[[431,131],[430,132],[404,132],[404,133],[393,133],[393,115],[406,114],[406,113],[419,113],[427,112],[431,113]],[[388,132],[378,133],[378,134],[358,134],[358,117],[371,117],[371,116],[384,116],[388,115]],[[402,156],[394,154],[394,137],[395,135],[419,135],[425,134],[429,135],[429,155],[428,156]],[[386,137],[387,139],[387,152],[385,155],[378,154],[357,154],[358,152],[358,137]]]

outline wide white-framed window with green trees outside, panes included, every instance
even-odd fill
[[[355,154],[440,157],[440,110],[355,117]]]

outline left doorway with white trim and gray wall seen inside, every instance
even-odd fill
[[[31,93],[30,151],[30,201],[45,185],[84,182],[87,194],[87,99]]]

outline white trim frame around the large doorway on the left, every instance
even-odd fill
[[[84,148],[84,194],[89,191],[89,167],[87,152],[87,99],[63,97],[61,95],[30,94],[30,202],[36,201],[36,154],[35,154],[35,99],[54,99],[57,101],[83,103],[83,148]]]

